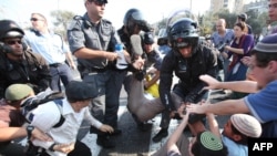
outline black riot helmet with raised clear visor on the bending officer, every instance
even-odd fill
[[[189,18],[182,18],[167,29],[170,44],[174,49],[197,46],[199,35],[197,23]]]

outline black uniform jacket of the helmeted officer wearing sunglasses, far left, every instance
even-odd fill
[[[0,53],[0,96],[3,97],[4,90],[13,83],[28,83],[35,93],[49,87],[51,76],[49,65],[40,55],[24,51],[21,62],[9,60],[6,53]]]

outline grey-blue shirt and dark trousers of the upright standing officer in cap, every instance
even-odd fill
[[[71,52],[81,48],[114,52],[120,38],[107,20],[102,19],[98,24],[90,22],[88,13],[74,17],[68,30]],[[121,83],[114,75],[113,63],[105,58],[80,59],[78,70],[84,82],[95,85],[98,97],[93,98],[92,115],[104,124],[116,127],[119,95]]]

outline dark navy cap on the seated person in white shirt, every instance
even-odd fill
[[[65,95],[69,100],[84,101],[98,96],[96,87],[83,81],[71,81],[65,86]]]

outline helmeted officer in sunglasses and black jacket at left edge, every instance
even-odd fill
[[[29,84],[35,93],[49,87],[49,65],[22,42],[24,32],[11,20],[0,21],[0,97],[13,83]]]

